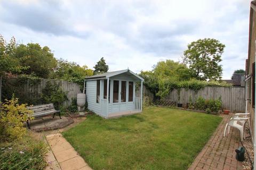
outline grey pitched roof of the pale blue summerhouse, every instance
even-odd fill
[[[135,77],[137,77],[138,79],[140,80],[143,80],[144,79],[142,77],[140,77],[138,74],[135,74],[133,73],[131,70],[129,69],[126,69],[126,70],[119,70],[119,71],[112,71],[112,72],[106,72],[106,73],[101,73],[101,74],[97,74],[97,75],[92,75],[90,77],[86,77],[85,80],[89,80],[89,79],[101,79],[101,78],[110,78],[110,77],[113,77],[115,75],[118,75],[118,74],[122,74],[122,73],[130,73],[132,75],[134,75]]]

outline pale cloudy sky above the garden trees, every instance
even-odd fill
[[[248,0],[0,0],[0,34],[91,69],[104,57],[109,71],[135,73],[181,61],[189,43],[215,38],[226,45],[222,79],[230,79],[245,68],[249,13]]]

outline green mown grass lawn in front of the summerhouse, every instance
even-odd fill
[[[93,169],[187,169],[221,119],[148,107],[110,120],[92,115],[63,135]]]

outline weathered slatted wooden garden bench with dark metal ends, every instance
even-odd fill
[[[36,105],[36,106],[32,106],[32,107],[27,107],[27,109],[34,112],[33,114],[31,114],[31,117],[35,117],[35,118],[41,117],[44,115],[50,115],[50,114],[53,114],[53,118],[54,118],[56,113],[59,113],[59,116],[60,116],[60,111],[56,111],[53,104]],[[27,122],[28,128],[30,129],[30,126],[28,124],[29,120],[27,120],[26,122]]]

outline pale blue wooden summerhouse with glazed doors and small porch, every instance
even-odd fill
[[[135,95],[135,84],[140,82],[140,94]],[[117,117],[142,111],[143,78],[131,70],[107,72],[85,78],[88,109],[105,117]]]

